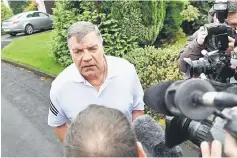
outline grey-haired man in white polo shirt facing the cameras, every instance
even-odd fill
[[[53,81],[48,124],[63,142],[67,122],[90,104],[105,105],[129,121],[144,114],[143,89],[135,67],[122,58],[106,56],[97,26],[80,21],[68,29],[73,64]]]

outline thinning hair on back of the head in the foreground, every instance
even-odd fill
[[[67,157],[138,157],[136,136],[126,116],[99,105],[78,114],[64,144]]]

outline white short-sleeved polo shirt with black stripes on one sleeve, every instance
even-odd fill
[[[127,60],[106,56],[108,75],[99,92],[71,64],[52,82],[48,125],[61,126],[90,104],[123,112],[132,121],[133,110],[144,110],[143,89],[135,67]]]

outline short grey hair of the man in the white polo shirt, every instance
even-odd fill
[[[68,28],[67,41],[69,41],[69,39],[72,36],[76,36],[77,41],[80,42],[87,34],[89,34],[91,32],[95,32],[96,35],[98,35],[98,37],[101,39],[101,42],[103,42],[103,38],[101,36],[101,33],[100,33],[98,27],[88,21],[78,21],[78,22],[72,24]],[[69,46],[69,43],[68,43],[68,46]]]

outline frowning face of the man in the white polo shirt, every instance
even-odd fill
[[[95,32],[87,34],[78,42],[76,36],[69,39],[72,60],[86,79],[95,77],[104,68],[104,50]]]

